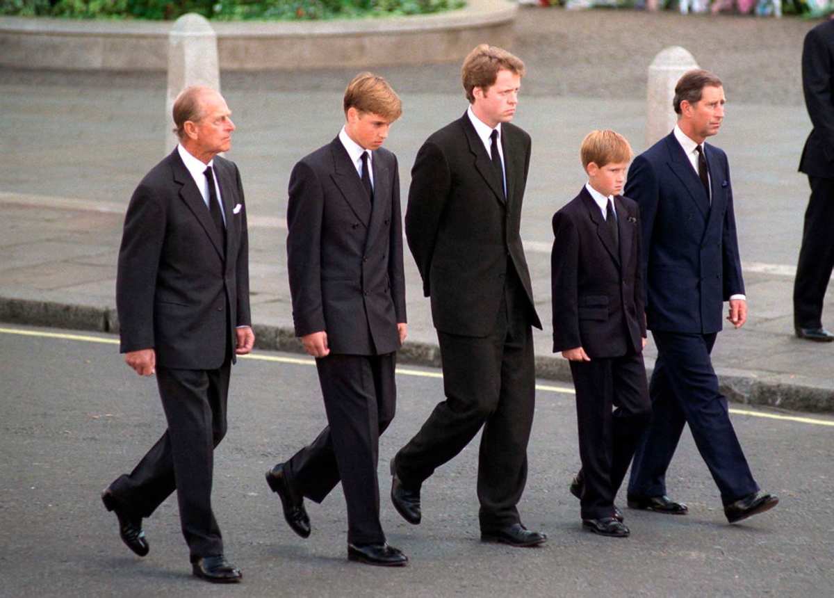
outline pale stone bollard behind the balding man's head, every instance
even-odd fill
[[[168,33],[168,100],[165,103],[165,154],[177,145],[173,133],[173,100],[191,85],[205,85],[220,91],[217,58],[217,34],[206,18],[195,13],[183,14]]]

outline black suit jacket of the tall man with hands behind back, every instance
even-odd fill
[[[411,170],[405,235],[441,332],[490,334],[510,264],[524,287],[530,323],[541,328],[519,234],[530,135],[510,123],[501,133],[506,200],[466,113],[426,140]]]

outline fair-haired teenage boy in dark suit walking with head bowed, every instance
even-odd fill
[[[329,426],[266,479],[304,538],[304,497],[321,502],[341,480],[349,560],[399,566],[408,558],[385,542],[376,470],[407,332],[397,158],[381,147],[402,108],[371,73],[349,83],[343,108],[339,135],[293,168],[287,208],[295,334],[316,358]]]

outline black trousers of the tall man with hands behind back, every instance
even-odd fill
[[[527,480],[527,443],[535,409],[529,301],[507,268],[495,329],[485,337],[438,331],[446,399],[394,458],[405,485],[419,485],[460,453],[483,427],[478,460],[480,528],[519,522]]]

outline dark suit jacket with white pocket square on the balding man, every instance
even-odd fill
[[[225,252],[176,149],[133,192],[116,279],[123,353],[153,348],[164,367],[216,369],[228,342],[234,349],[234,327],[251,324],[244,189],[233,162],[216,156],[214,170],[226,217]]]

